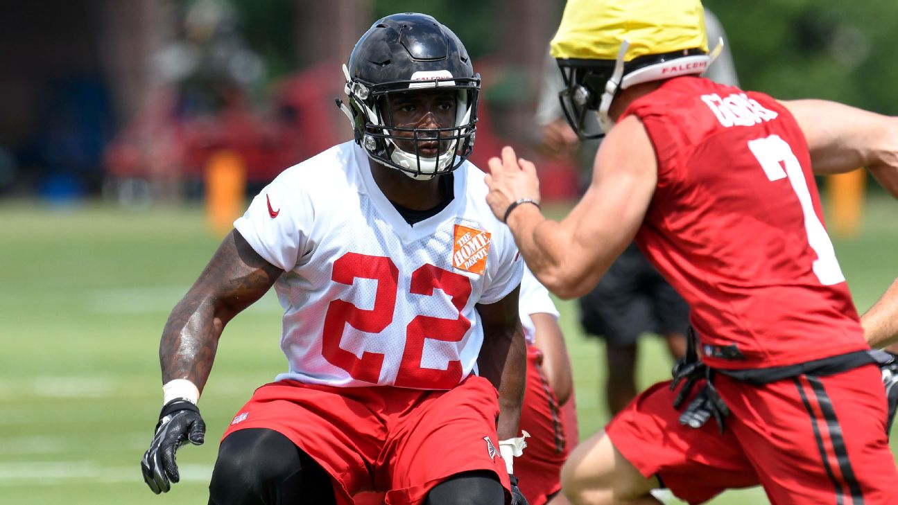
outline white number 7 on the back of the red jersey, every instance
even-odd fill
[[[814,202],[807,189],[805,173],[801,170],[801,163],[792,152],[792,147],[779,135],[770,135],[748,141],[748,148],[761,163],[767,178],[771,181],[788,178],[792,190],[798,196],[801,211],[805,216],[807,241],[817,254],[817,259],[814,260],[814,275],[824,286],[844,282],[845,276],[836,259],[832,241],[826,234],[823,223],[817,218],[817,213],[814,212]]]

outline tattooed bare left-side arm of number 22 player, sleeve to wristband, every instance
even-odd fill
[[[165,323],[159,345],[163,384],[188,379],[202,391],[225,325],[268,292],[282,273],[231,231]]]

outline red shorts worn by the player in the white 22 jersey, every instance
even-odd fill
[[[268,428],[284,434],[330,474],[338,503],[356,492],[386,492],[414,505],[447,477],[490,470],[510,496],[497,453],[496,388],[471,376],[447,391],[329,387],[292,380],[256,389],[225,431]]]

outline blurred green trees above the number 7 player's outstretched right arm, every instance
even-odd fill
[[[747,89],[898,114],[894,0],[704,3],[726,28]],[[834,118],[835,119],[835,118]]]

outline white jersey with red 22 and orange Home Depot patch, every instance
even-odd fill
[[[354,142],[283,171],[236,222],[284,269],[277,380],[448,389],[477,373],[478,303],[502,300],[524,260],[486,203],[484,174],[454,174],[453,201],[409,225]]]

